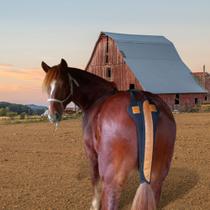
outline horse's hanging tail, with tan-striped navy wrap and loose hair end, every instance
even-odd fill
[[[138,150],[141,184],[137,189],[131,210],[155,210],[156,201],[150,182],[158,112],[155,105],[150,104],[148,100],[141,104],[141,110],[143,111],[141,115],[143,127],[139,133],[144,134],[139,139]]]

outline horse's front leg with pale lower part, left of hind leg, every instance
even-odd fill
[[[91,203],[90,210],[99,210],[100,209],[100,187],[99,187],[99,171],[98,171],[98,156],[97,153],[94,151],[92,146],[86,142],[85,150],[87,157],[90,160],[90,170],[91,170],[91,182],[93,186],[93,200]]]

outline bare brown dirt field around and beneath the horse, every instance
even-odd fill
[[[210,209],[210,113],[176,114],[177,142],[159,209]],[[134,173],[121,196],[130,208]],[[80,120],[0,125],[1,210],[86,210],[92,189]]]

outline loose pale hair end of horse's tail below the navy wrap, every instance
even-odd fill
[[[131,210],[155,210],[156,203],[150,184],[141,183],[137,189]]]

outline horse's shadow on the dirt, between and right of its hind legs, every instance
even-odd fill
[[[164,182],[158,209],[182,198],[198,183],[198,180],[199,176],[196,171],[187,168],[172,168]],[[120,209],[132,203],[138,185],[138,177],[132,175],[122,193]]]

